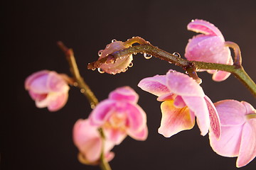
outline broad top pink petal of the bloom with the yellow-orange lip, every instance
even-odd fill
[[[169,90],[178,96],[205,96],[201,86],[186,74],[169,71],[166,80]]]

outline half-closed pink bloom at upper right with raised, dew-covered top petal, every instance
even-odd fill
[[[233,64],[230,49],[225,46],[222,33],[212,23],[196,19],[188,23],[187,28],[196,33],[201,33],[188,40],[185,52],[185,57],[188,60]],[[223,81],[230,76],[229,72],[217,70],[207,70],[207,72],[213,74],[214,81]]]

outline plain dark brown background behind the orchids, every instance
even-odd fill
[[[73,48],[82,77],[102,101],[119,86],[131,86],[147,113],[149,137],[139,142],[127,137],[114,147],[110,162],[117,169],[236,169],[235,158],[221,157],[210,148],[208,135],[195,126],[165,138],[160,125],[160,102],[137,87],[139,81],[169,69],[180,68],[152,57],[134,56],[134,66],[115,76],[87,70],[97,52],[112,39],[125,41],[141,36],[162,50],[184,50],[193,33],[186,30],[195,18],[210,21],[225,40],[240,45],[242,65],[256,81],[255,1],[1,1],[1,169],[100,169],[80,164],[73,145],[76,120],[87,118],[91,108],[80,90],[71,87],[68,103],[55,113],[36,108],[24,81],[33,72],[55,70],[70,75],[65,55],[56,42]],[[233,76],[215,82],[201,72],[203,89],[213,102],[233,98],[256,107],[255,98]],[[241,168],[256,169],[256,160]]]

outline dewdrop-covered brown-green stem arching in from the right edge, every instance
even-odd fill
[[[234,65],[188,61],[176,55],[170,54],[169,52],[161,50],[158,47],[154,47],[150,43],[128,47],[124,50],[113,52],[109,56],[117,58],[125,55],[132,55],[134,53],[139,53],[139,52],[146,53],[154,57],[158,57],[161,60],[166,60],[167,62],[175,64],[179,67],[182,67],[184,70],[188,72],[188,74],[191,77],[193,77],[193,79],[196,79],[196,81],[198,82],[200,81],[200,79],[196,75],[196,69],[216,69],[216,70],[222,70],[225,72],[230,72],[234,74],[234,76],[237,77],[243,84],[245,84],[247,89],[249,89],[252,92],[253,96],[256,96],[255,82],[252,81],[252,79],[248,76],[248,74],[240,65],[241,63],[240,56],[235,60],[236,64]],[[96,62],[89,63],[87,68],[95,69],[99,67],[100,64],[104,63],[104,60],[106,60],[106,57],[102,58],[102,60],[97,60]]]

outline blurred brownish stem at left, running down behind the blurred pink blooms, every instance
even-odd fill
[[[70,65],[70,72],[73,74],[73,79],[75,82],[73,83],[73,86],[78,86],[80,88],[80,91],[82,94],[84,94],[87,97],[87,100],[90,102],[91,108],[95,108],[97,103],[99,101],[95,97],[95,95],[92,93],[90,87],[85,83],[84,79],[80,76],[80,72],[78,69],[78,64],[75,62],[75,56],[72,49],[69,49],[66,47],[63,42],[58,42],[58,46],[61,50],[65,53],[66,59],[68,60],[68,64]],[[105,135],[101,128],[99,128],[100,135],[102,137],[102,141],[105,141]],[[107,160],[105,159],[104,155],[104,147],[105,142],[102,142],[102,154],[100,156],[100,167],[102,170],[111,170],[110,164],[108,164]]]

